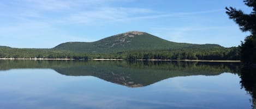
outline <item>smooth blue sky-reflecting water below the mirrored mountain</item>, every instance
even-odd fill
[[[0,108],[251,108],[252,97],[240,80],[223,72],[129,87],[50,68],[14,68],[0,71]]]

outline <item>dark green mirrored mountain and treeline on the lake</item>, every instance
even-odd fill
[[[127,87],[142,87],[155,82],[191,75],[238,73],[239,63],[177,61],[0,61],[0,70],[51,68],[68,76],[96,76]]]

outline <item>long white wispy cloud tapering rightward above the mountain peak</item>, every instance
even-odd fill
[[[100,8],[96,10],[88,10],[78,12],[76,14],[70,15],[68,19],[70,22],[75,23],[90,23],[97,21],[104,22],[124,22],[133,20],[144,20],[144,19],[154,19],[162,17],[175,17],[184,18],[190,15],[197,14],[207,14],[211,12],[223,11],[218,10],[207,10],[207,11],[196,11],[196,12],[177,12],[172,14],[163,14],[163,12],[155,11],[145,8]]]

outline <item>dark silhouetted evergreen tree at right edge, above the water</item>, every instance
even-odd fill
[[[245,38],[241,43],[241,61],[246,63],[256,63],[256,0],[243,1],[253,11],[245,14],[242,10],[233,7],[226,7],[226,13],[230,19],[233,19],[242,31],[249,31],[251,35]]]

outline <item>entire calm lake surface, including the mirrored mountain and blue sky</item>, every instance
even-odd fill
[[[253,108],[254,71],[217,62],[0,60],[0,108]]]

